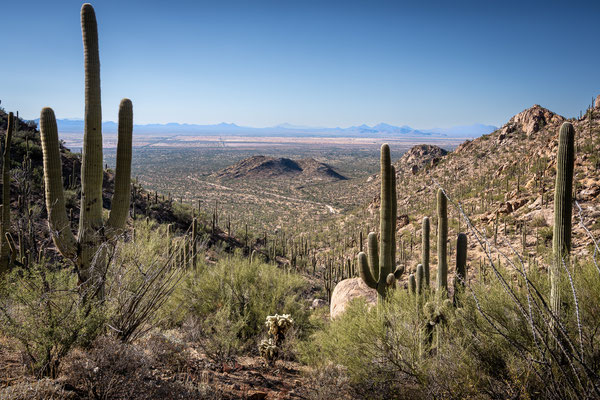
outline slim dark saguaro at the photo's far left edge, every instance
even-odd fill
[[[10,243],[6,234],[10,231],[10,144],[14,129],[14,115],[8,113],[8,126],[4,141],[2,161],[2,224],[0,224],[0,273],[6,272],[10,264]]]

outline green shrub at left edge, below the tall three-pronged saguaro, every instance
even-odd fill
[[[99,301],[84,300],[70,269],[15,268],[0,290],[0,331],[19,341],[36,375],[55,377],[68,352],[89,345],[104,327]]]

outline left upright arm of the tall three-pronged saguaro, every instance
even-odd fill
[[[40,137],[44,155],[46,209],[48,210],[48,224],[52,232],[52,240],[63,256],[73,258],[77,253],[77,242],[71,232],[65,208],[58,130],[54,111],[51,108],[42,109]]]

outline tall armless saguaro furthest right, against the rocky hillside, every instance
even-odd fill
[[[560,318],[560,271],[563,260],[571,251],[571,212],[573,167],[575,164],[575,129],[569,122],[560,127],[556,155],[556,186],[554,189],[553,262],[550,269],[550,304]]]

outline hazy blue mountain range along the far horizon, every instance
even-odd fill
[[[39,123],[39,120],[36,120]],[[83,132],[83,120],[80,119],[59,119],[56,121],[60,132],[79,133]],[[102,123],[102,131],[106,133],[116,133],[118,125],[116,122],[107,121]],[[410,126],[394,126],[380,123],[374,126],[360,125],[349,128],[324,128],[297,126],[291,124],[279,124],[266,128],[252,128],[239,126],[236,124],[220,123],[216,125],[196,125],[196,124],[178,124],[171,122],[168,124],[146,124],[134,125],[135,134],[153,134],[164,136],[175,135],[243,135],[243,136],[348,136],[348,137],[389,137],[389,136],[409,136],[409,137],[464,137],[473,138],[486,135],[498,129],[492,125],[473,124],[466,126],[456,126],[452,128],[434,128],[434,129],[414,129]]]

